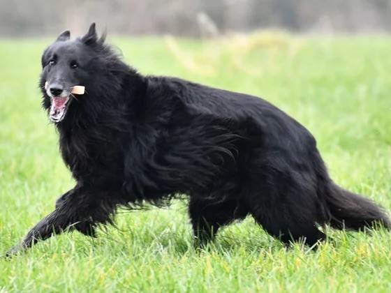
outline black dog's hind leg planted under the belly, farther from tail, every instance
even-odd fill
[[[204,246],[212,240],[223,225],[233,220],[243,219],[248,211],[238,205],[237,200],[199,200],[191,199],[189,215],[195,236],[195,246]]]

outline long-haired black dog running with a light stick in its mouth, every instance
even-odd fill
[[[189,197],[198,243],[253,216],[281,241],[325,239],[318,227],[390,228],[383,209],[337,186],[316,141],[267,101],[170,77],[142,76],[98,38],[61,33],[42,57],[43,107],[76,186],[8,252],[64,230],[95,235],[119,206]],[[44,84],[47,82],[47,89]],[[83,96],[73,95],[85,86]]]

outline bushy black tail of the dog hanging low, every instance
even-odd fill
[[[391,229],[391,221],[383,207],[375,202],[330,184],[325,198],[330,211],[330,225],[337,229],[361,230],[383,225]]]

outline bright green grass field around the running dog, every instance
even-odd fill
[[[391,38],[258,33],[200,43],[112,38],[140,72],[263,96],[304,126],[332,177],[391,210]],[[0,40],[0,253],[73,186],[40,109],[49,40]],[[124,212],[98,239],[56,236],[0,258],[0,292],[390,292],[390,233],[284,248],[251,218],[193,249],[186,207]]]

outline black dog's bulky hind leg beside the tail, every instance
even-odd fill
[[[246,204],[256,222],[284,243],[313,246],[326,235],[318,230],[317,195],[305,174],[265,172],[254,180]]]

